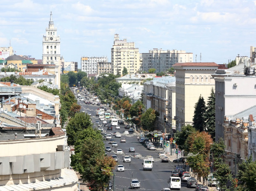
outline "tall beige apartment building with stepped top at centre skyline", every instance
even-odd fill
[[[134,42],[120,40],[115,34],[114,45],[111,48],[111,69],[113,74],[123,74],[123,68],[128,74],[135,74],[140,69],[139,48],[135,48]]]

